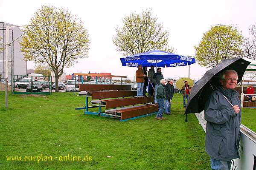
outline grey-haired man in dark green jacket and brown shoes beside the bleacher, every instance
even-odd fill
[[[157,103],[158,103],[158,113],[157,116],[155,117],[158,120],[165,120],[163,118],[163,111],[164,111],[164,99],[166,98],[165,90],[164,90],[164,85],[165,85],[165,80],[161,79],[160,80],[160,85],[157,86]]]

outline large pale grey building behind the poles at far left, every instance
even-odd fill
[[[6,42],[6,28],[5,26],[15,26],[9,23],[0,22],[0,40],[2,42]],[[12,42],[17,37],[19,37],[23,32],[19,27],[11,27],[9,28],[9,42]],[[8,66],[8,78],[12,78],[12,71],[14,75],[25,75],[27,70],[27,62],[24,58],[23,54],[20,51],[20,41],[22,37],[13,42],[12,45],[9,46],[9,66]],[[4,48],[3,43],[0,43],[0,48]],[[13,67],[11,61],[13,59]],[[6,51],[0,51],[0,78],[5,78],[5,63],[6,61]]]

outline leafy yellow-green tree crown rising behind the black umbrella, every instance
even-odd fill
[[[201,66],[215,67],[227,58],[241,57],[244,38],[232,25],[212,26],[195,48],[195,59]]]

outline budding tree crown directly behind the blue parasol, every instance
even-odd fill
[[[125,56],[151,50],[174,52],[174,48],[168,45],[168,30],[163,31],[163,24],[157,23],[157,17],[152,16],[151,10],[126,16],[123,26],[116,27],[113,43]]]

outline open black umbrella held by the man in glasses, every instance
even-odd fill
[[[220,85],[218,75],[224,70],[235,70],[241,81],[244,71],[250,61],[242,58],[225,59],[214,68],[208,70],[204,76],[192,87],[189,102],[187,102],[185,114],[200,113],[212,93]],[[239,82],[238,81],[238,82]]]

